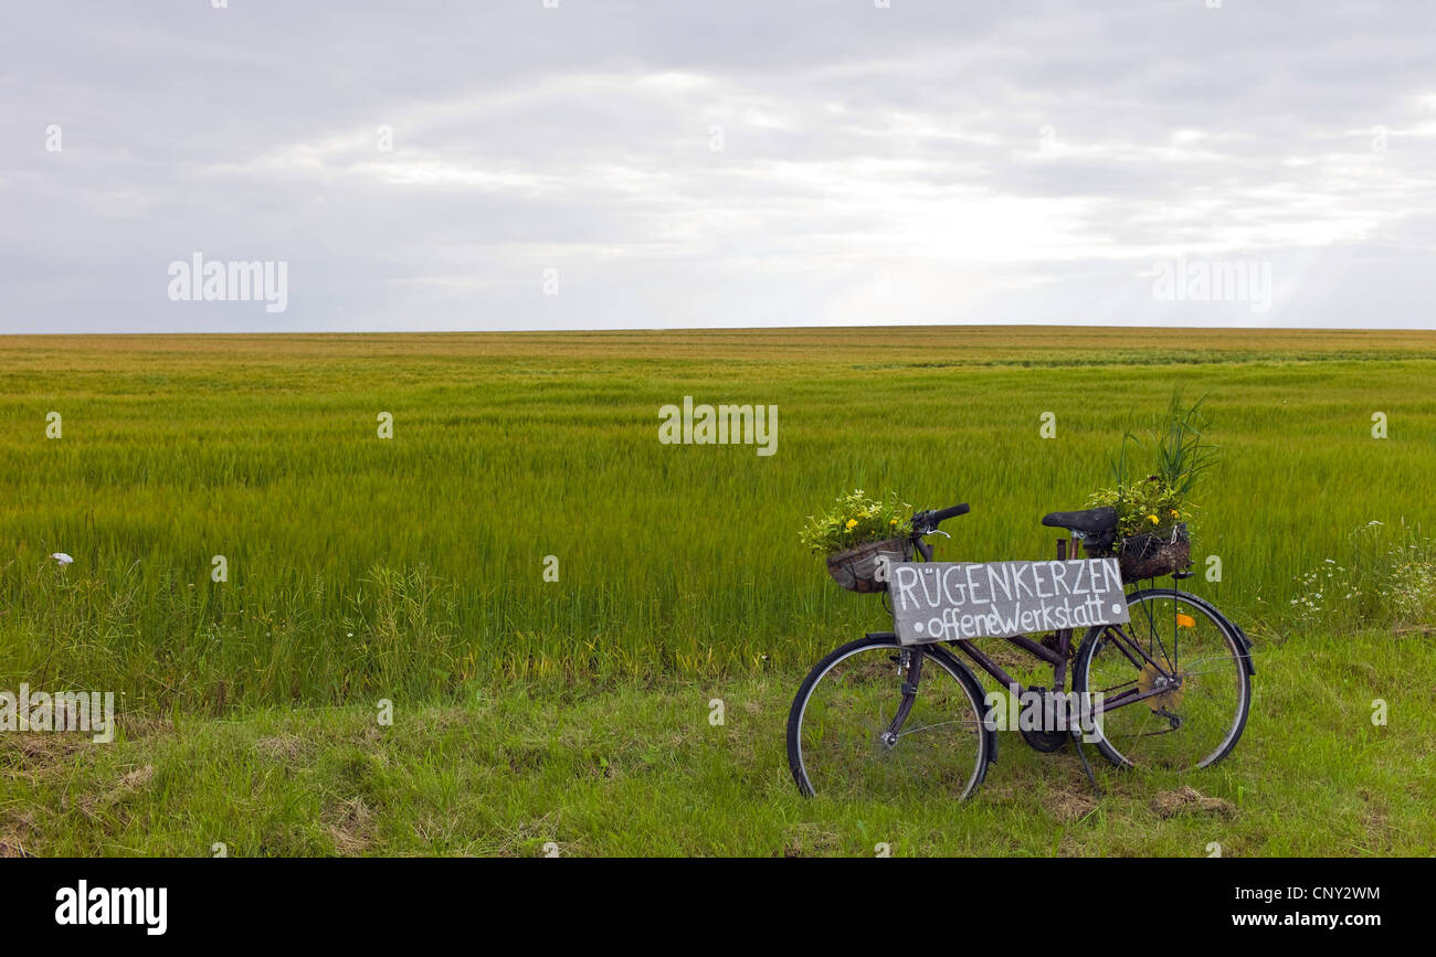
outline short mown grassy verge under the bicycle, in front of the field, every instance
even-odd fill
[[[1436,649],[1363,633],[1267,649],[1246,733],[1185,776],[1002,735],[962,805],[803,801],[783,727],[798,674],[464,703],[121,720],[112,745],[0,736],[0,851],[39,855],[1236,855],[1436,852]],[[724,702],[724,723],[709,702]],[[1389,723],[1371,723],[1371,702]],[[1183,791],[1190,786],[1195,792]]]

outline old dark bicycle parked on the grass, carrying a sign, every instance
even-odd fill
[[[931,562],[928,537],[951,538],[938,527],[968,511],[964,504],[913,515],[910,554]],[[1077,542],[1101,557],[1114,547],[1117,514],[1051,512],[1043,525],[1070,534],[1057,541],[1058,561],[1076,557]],[[1038,640],[995,636],[1050,664],[1053,690],[1070,677],[1073,693],[1094,702],[1094,727],[1022,727],[1031,748],[1055,752],[1074,740],[1086,766],[1081,740],[1094,733],[1097,749],[1119,768],[1173,769],[1208,768],[1232,752],[1251,710],[1251,641],[1209,601],[1175,587],[1190,571],[1170,574],[1173,587],[1149,580],[1129,591],[1124,581],[1129,621],[1093,626],[1080,644],[1076,628]],[[886,603],[887,593],[880,594]],[[793,699],[787,745],[798,791],[860,799],[938,786],[968,798],[997,760],[998,739],[981,682],[952,649],[1002,689],[1047,697],[1047,689],[1022,687],[971,640],[903,644],[896,624],[869,633],[823,657]]]

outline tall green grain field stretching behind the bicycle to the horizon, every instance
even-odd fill
[[[1425,333],[7,337],[0,679],[225,713],[806,667],[883,621],[801,552],[806,515],[898,488],[974,505],[939,557],[1047,555],[1038,517],[1107,482],[1173,382],[1211,395],[1223,456],[1198,525],[1223,575],[1193,585],[1279,640],[1354,529],[1422,534],[1433,373]],[[685,395],[777,405],[777,453],[661,445]]]

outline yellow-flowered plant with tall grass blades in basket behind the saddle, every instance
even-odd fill
[[[1144,436],[1129,430],[1122,436],[1122,448],[1111,459],[1113,488],[1091,494],[1093,508],[1117,509],[1117,535],[1170,534],[1178,522],[1190,524],[1196,508],[1190,504],[1192,489],[1216,461],[1216,446],[1203,439],[1211,428],[1202,413],[1206,396],[1190,406],[1182,402],[1182,389],[1172,390],[1166,413],[1153,420]],[[1150,448],[1153,472],[1129,481],[1127,449]]]

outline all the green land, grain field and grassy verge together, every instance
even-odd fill
[[[972,504],[942,560],[1047,557],[1173,385],[1222,446],[1188,584],[1256,640],[1236,753],[1090,806],[1015,736],[961,808],[790,793],[797,680],[886,627],[804,517],[895,488]],[[1432,854],[1433,386],[1429,333],[3,337],[0,689],[113,690],[122,740],[0,736],[0,849]],[[778,406],[777,453],[659,443],[684,396]]]

